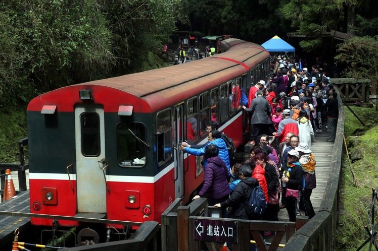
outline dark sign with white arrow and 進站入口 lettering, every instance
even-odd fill
[[[194,218],[194,239],[238,243],[238,222]]]

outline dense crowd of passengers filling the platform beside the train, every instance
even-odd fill
[[[290,221],[301,214],[310,219],[315,215],[310,199],[316,187],[311,143],[324,130],[328,131],[327,142],[335,141],[338,100],[326,72],[319,66],[311,69],[300,69],[286,57],[277,56],[272,64],[273,77],[253,85],[248,102],[237,102],[249,114],[249,143],[253,145],[250,157],[243,162],[230,162],[213,121],[208,143],[183,143],[182,151],[205,155],[205,182],[194,199],[208,198],[209,205],[222,209],[223,217],[252,219],[245,206],[255,187],[261,186],[266,210],[253,219],[277,221],[279,210],[284,208]]]

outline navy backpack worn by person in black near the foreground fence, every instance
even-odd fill
[[[251,218],[260,217],[264,214],[266,209],[265,195],[262,191],[261,185],[254,187],[248,204],[245,207],[247,215]]]

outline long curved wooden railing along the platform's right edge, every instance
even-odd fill
[[[341,184],[341,155],[343,151],[343,135],[345,112],[340,95],[339,119],[332,157],[332,169],[327,180],[327,187],[319,212],[290,238],[282,251],[290,250],[335,250],[335,233],[338,225],[339,189]]]

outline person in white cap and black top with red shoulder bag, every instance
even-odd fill
[[[293,136],[292,136],[293,137]],[[283,171],[281,181],[286,184],[287,189],[301,191],[303,188],[303,169],[298,162],[299,153],[295,149],[288,152],[288,163]],[[298,199],[300,198],[300,195]],[[289,220],[295,222],[297,218],[297,199],[286,197],[286,210],[288,210]]]

